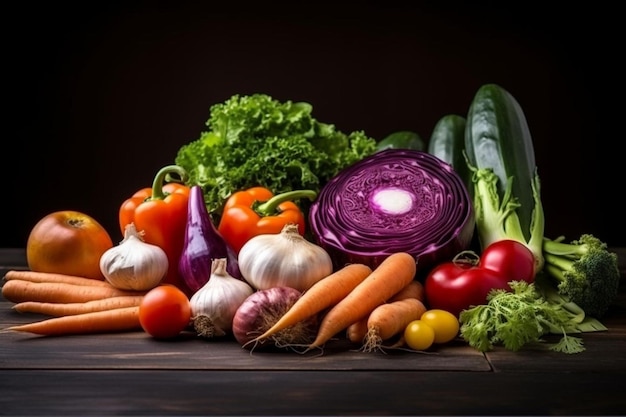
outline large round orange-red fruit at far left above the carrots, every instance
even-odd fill
[[[111,236],[93,217],[61,210],[44,216],[32,228],[26,260],[31,271],[104,280],[100,257],[111,247]]]

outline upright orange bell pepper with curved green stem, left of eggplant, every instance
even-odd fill
[[[164,184],[171,174],[182,183]],[[142,188],[124,201],[119,211],[122,234],[126,225],[134,223],[143,232],[144,242],[159,246],[168,259],[167,275],[163,283],[173,284],[188,293],[178,272],[178,261],[183,251],[190,188],[184,185],[187,173],[177,165],[161,168],[154,178],[152,188]]]

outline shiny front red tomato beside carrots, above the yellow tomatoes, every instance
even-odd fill
[[[492,288],[510,289],[507,280],[496,271],[453,261],[433,268],[424,281],[429,307],[457,317],[464,309],[485,304]]]

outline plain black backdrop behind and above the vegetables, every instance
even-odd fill
[[[626,246],[618,15],[521,2],[23,2],[4,13],[0,247],[23,247],[65,209],[121,239],[122,201],[233,94],[307,101],[345,132],[427,139],[485,83],[525,111],[546,235]]]

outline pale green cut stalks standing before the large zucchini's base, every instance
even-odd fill
[[[498,194],[498,176],[491,168],[478,169],[472,166],[468,160],[468,167],[472,171],[474,183],[474,210],[476,212],[476,231],[482,248],[491,243],[504,239],[517,240],[530,249],[535,256],[535,271],[543,268],[543,233],[544,213],[539,192],[539,175],[535,171],[531,183],[533,199],[535,202],[532,210],[530,230],[524,231],[517,214],[520,204],[512,195],[514,178],[509,178],[502,199]],[[529,237],[526,238],[525,233]]]

